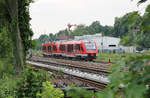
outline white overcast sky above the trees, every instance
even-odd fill
[[[102,25],[113,25],[115,17],[131,11],[144,12],[148,3],[137,7],[137,0],[35,0],[30,5],[33,38],[57,33],[68,23],[90,25],[98,20]]]

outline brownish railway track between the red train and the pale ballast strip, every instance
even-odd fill
[[[45,57],[38,57],[38,56],[33,56],[29,60],[44,63],[44,64],[67,67],[70,69],[78,69],[83,72],[101,74],[104,76],[107,76],[108,73],[111,72],[108,70],[110,64],[106,64],[106,63],[97,63],[97,62],[90,62],[90,61],[71,61],[65,59],[45,58]]]

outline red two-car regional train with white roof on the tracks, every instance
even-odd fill
[[[62,41],[42,45],[43,56],[62,56],[70,58],[95,59],[97,44],[93,41]]]

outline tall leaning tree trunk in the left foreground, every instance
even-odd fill
[[[11,17],[11,33],[13,41],[13,54],[15,57],[15,72],[20,73],[23,69],[23,55],[22,55],[22,42],[18,23],[18,0],[5,0],[8,8],[9,15]]]

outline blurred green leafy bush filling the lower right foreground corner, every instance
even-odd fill
[[[149,98],[150,90],[150,54],[127,56],[112,66],[112,74],[109,75],[110,84],[107,93],[114,97],[125,96],[125,98]],[[122,86],[123,85],[123,86]],[[120,89],[120,87],[123,87]],[[106,95],[106,91],[99,93]]]

